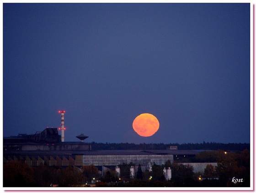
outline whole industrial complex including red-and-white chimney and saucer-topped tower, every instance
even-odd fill
[[[167,147],[165,150],[98,150],[92,151],[91,144],[83,142],[88,136],[77,136],[80,142],[64,142],[64,112],[61,113],[61,136],[57,128],[46,128],[35,134],[18,134],[18,136],[4,137],[3,162],[11,160],[24,161],[27,165],[37,167],[40,164],[47,166],[88,166],[95,165],[104,173],[104,168],[114,168],[118,172],[118,165],[133,163],[134,168],[140,164],[149,169],[155,163],[171,163],[174,157],[195,156],[199,152],[194,150],[177,150]],[[131,170],[134,170],[131,168]],[[169,173],[166,168],[165,173]],[[168,171],[167,171],[168,170]]]

